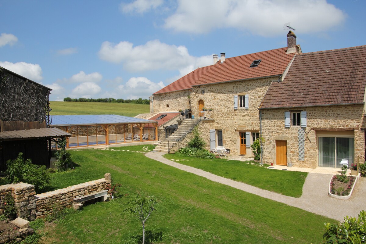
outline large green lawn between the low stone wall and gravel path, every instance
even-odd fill
[[[41,243],[138,243],[141,222],[123,210],[141,190],[158,200],[146,222],[147,238],[157,237],[155,244],[320,243],[324,222],[336,223],[154,161],[136,152],[142,148],[71,151],[77,167],[55,173],[54,188],[100,179],[109,172],[126,195],[68,214],[46,228]]]

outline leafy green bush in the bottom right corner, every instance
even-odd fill
[[[325,233],[322,243],[366,243],[366,211],[362,210],[358,218],[344,217],[344,222],[338,225],[325,223]]]

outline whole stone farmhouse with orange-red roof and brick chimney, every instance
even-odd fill
[[[199,131],[207,149],[224,146],[231,154],[253,157],[250,144],[260,132],[258,107],[270,85],[283,81],[295,55],[301,53],[292,31],[287,43],[284,48],[238,57],[214,55],[213,65],[197,68],[154,93],[150,112],[188,110],[189,116],[202,119]]]

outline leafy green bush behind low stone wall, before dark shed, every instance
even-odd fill
[[[24,160],[23,153],[19,153],[14,160],[9,159],[6,166],[9,183],[28,183],[34,185],[36,191],[45,189],[49,185],[51,177],[46,166],[32,164],[30,159]]]

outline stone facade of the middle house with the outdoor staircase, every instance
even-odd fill
[[[153,97],[153,112],[178,111],[191,109],[192,114],[199,116],[199,101],[203,101],[205,108],[213,108],[210,116],[214,122],[205,124],[210,128],[199,129],[201,136],[210,143],[209,130],[222,130],[223,146],[230,149],[232,154],[240,154],[240,133],[259,132],[258,107],[269,85],[277,81],[278,77],[241,80],[211,85],[193,87],[193,90],[176,91],[171,93],[155,94]],[[248,95],[249,108],[234,109],[234,95]],[[190,102],[188,101],[190,97]],[[239,103],[238,103],[239,104]],[[169,105],[167,107],[167,105]],[[152,112],[150,110],[150,112]],[[201,127],[201,123],[199,126]],[[187,137],[188,138],[188,137]],[[252,143],[252,138],[249,138]],[[217,143],[216,143],[217,145]],[[251,157],[252,151],[247,146],[246,155]]]

